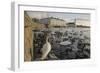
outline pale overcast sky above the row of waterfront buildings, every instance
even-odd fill
[[[63,19],[67,22],[74,21],[75,19],[82,19],[90,21],[90,14],[86,13],[57,13],[57,12],[36,12],[36,11],[27,11],[28,15],[31,18],[47,18],[47,17],[55,17]]]

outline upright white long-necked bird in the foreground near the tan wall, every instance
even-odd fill
[[[51,44],[50,42],[48,41],[48,36],[46,37],[46,43],[43,45],[43,47],[41,48],[41,53],[42,53],[42,56],[41,56],[41,60],[44,60],[47,58],[49,52],[51,51]]]

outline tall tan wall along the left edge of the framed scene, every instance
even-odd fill
[[[31,61],[32,48],[32,21],[27,12],[24,12],[24,61]]]

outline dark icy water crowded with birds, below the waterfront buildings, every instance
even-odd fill
[[[52,44],[52,51],[50,52],[50,56],[47,60],[63,60],[63,59],[86,59],[86,58],[90,58],[90,28],[50,28],[49,29],[51,31],[52,34],[54,35],[54,39],[51,41]],[[35,58],[39,58],[40,56],[40,49],[42,48],[43,45],[43,41],[45,39],[43,39],[43,32],[41,32],[42,30],[36,32],[38,34],[38,36],[36,36],[35,39],[35,44],[37,46],[34,47],[35,51]],[[45,30],[44,30],[45,31]],[[58,38],[57,37],[57,33],[63,33],[63,35]],[[65,33],[68,33],[68,35],[64,35]],[[66,40],[64,40],[64,38],[66,39],[68,36],[72,37],[78,37],[78,40],[73,38],[72,40],[70,40],[71,42],[73,42],[73,40],[75,41],[74,44],[71,43],[69,46],[68,45],[60,45],[61,42],[65,42]],[[84,43],[80,42],[80,34],[82,34],[82,36],[85,36],[87,38],[84,39],[84,41],[88,41],[87,46],[84,46]],[[52,35],[51,35],[52,37]],[[67,40],[69,40],[70,38],[68,38]],[[51,39],[50,39],[51,40]],[[80,43],[79,43],[80,42]],[[35,45],[34,44],[34,45]],[[85,43],[86,44],[86,43]],[[78,51],[77,51],[78,50]],[[56,58],[55,58],[56,56]]]

